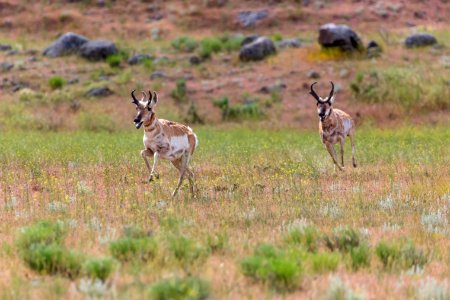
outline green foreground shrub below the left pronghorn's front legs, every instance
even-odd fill
[[[111,255],[119,261],[147,261],[156,256],[158,245],[150,237],[122,237],[110,243]]]

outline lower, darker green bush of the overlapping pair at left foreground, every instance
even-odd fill
[[[22,259],[33,270],[49,275],[62,275],[71,279],[80,272],[84,257],[76,252],[67,250],[58,244],[33,244],[22,251]]]

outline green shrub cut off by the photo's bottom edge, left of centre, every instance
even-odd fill
[[[154,283],[148,294],[153,300],[202,300],[210,297],[211,286],[209,282],[197,277],[174,277]]]

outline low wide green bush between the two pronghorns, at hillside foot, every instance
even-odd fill
[[[222,111],[223,121],[259,119],[264,116],[257,102],[230,105],[228,97],[223,97],[214,100],[213,105]]]

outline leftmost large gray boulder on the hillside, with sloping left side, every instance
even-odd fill
[[[79,34],[68,32],[60,36],[53,44],[48,46],[43,54],[48,57],[58,57],[78,53],[81,46],[89,40]]]

